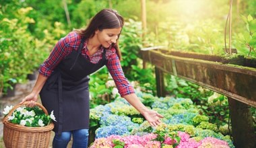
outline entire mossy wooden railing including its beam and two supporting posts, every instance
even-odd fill
[[[143,61],[155,66],[158,96],[165,96],[163,73],[223,94],[228,97],[234,145],[256,145],[253,119],[249,110],[249,106],[256,107],[255,67],[245,67],[241,61],[237,62],[239,65],[230,65],[222,57],[168,52],[160,50],[159,47],[143,48],[140,55]]]

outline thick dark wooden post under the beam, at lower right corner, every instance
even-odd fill
[[[232,137],[235,147],[256,147],[256,135],[250,106],[228,98]]]

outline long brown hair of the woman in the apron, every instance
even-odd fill
[[[119,15],[117,11],[113,9],[102,9],[94,17],[92,17],[92,20],[85,29],[81,28],[74,31],[80,36],[88,39],[94,36],[96,30],[102,31],[104,29],[123,28],[123,24],[123,17]],[[113,46],[116,48],[117,56],[121,60],[121,50],[119,49],[118,40],[119,37],[117,38],[117,42],[115,44],[113,43]]]

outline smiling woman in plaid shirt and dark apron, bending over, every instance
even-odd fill
[[[89,128],[89,90],[91,73],[106,65],[119,94],[135,107],[152,126],[160,124],[162,115],[144,106],[121,69],[118,46],[123,17],[112,9],[102,9],[86,29],[74,30],[61,38],[39,69],[32,92],[21,102],[29,106],[40,99],[54,114],[53,147],[67,147],[73,136],[73,147],[87,147]]]

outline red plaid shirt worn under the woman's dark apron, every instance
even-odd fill
[[[42,65],[40,65],[39,73],[44,75],[44,77],[49,77],[54,71],[55,67],[57,67],[57,65],[59,65],[59,63],[65,59],[67,55],[69,55],[73,50],[78,50],[80,42],[81,36],[75,32],[70,32],[67,34],[67,36],[61,38],[61,40],[57,42],[51,51],[49,58],[46,59]],[[84,47],[82,48],[81,54],[86,59],[89,59],[91,63],[98,63],[100,59],[102,59],[102,52],[104,48],[101,47],[98,52],[90,57],[88,48],[86,46],[87,41],[84,42]],[[108,68],[110,75],[113,77],[115,84],[117,85],[117,89],[119,89],[119,94],[121,94],[122,97],[127,94],[133,94],[135,91],[123,73],[119,57],[116,54],[116,49],[110,46],[110,48],[105,50],[107,59],[106,67]]]

